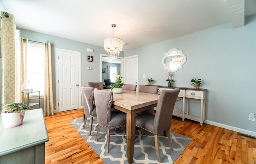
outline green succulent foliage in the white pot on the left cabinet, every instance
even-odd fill
[[[3,106],[3,113],[19,113],[23,112],[26,109],[30,109],[29,106],[23,103],[11,103],[11,104],[6,104]]]

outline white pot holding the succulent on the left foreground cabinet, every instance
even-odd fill
[[[19,113],[1,113],[4,128],[13,128],[23,123],[25,110]]]

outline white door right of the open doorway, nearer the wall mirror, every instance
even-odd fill
[[[138,55],[129,56],[129,57],[124,58],[124,72],[125,72],[124,73],[124,83],[125,84],[137,84],[137,82],[138,82]]]

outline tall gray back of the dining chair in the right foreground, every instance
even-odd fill
[[[159,135],[171,127],[172,112],[179,93],[180,88],[161,92],[154,118],[154,134]]]

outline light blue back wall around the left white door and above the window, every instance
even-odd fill
[[[54,106],[56,105],[56,94],[55,94],[55,62],[56,62],[56,50],[55,48],[61,48],[65,50],[72,50],[81,52],[81,86],[88,86],[88,82],[101,82],[100,80],[100,54],[106,54],[103,47],[95,46],[92,44],[87,44],[83,42],[77,42],[74,40],[69,40],[66,38],[60,38],[57,36],[52,36],[48,34],[42,34],[39,32],[34,32],[30,30],[20,30],[20,36],[23,38],[28,38],[28,40],[33,40],[37,42],[51,42],[54,44],[52,46],[52,82],[53,82],[53,92],[54,92]],[[84,36],[86,37],[86,36]],[[102,41],[103,42],[103,41]],[[87,52],[87,48],[94,49],[94,52]],[[93,56],[93,62],[87,61],[87,56]],[[124,56],[124,52],[119,54],[120,57]],[[88,70],[87,67],[92,67],[92,70]]]

